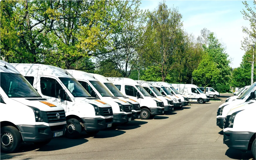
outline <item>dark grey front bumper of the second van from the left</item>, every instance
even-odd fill
[[[86,131],[99,131],[111,127],[113,118],[82,118]]]

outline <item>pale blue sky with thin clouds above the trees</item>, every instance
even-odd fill
[[[161,1],[141,1],[140,8],[154,10]],[[247,1],[252,6],[252,1]],[[195,38],[203,28],[214,32],[215,36],[226,46],[226,53],[232,60],[230,66],[240,65],[245,51],[241,50],[241,41],[246,35],[242,26],[249,27],[240,11],[244,8],[242,1],[165,1],[167,6],[178,7],[182,14],[183,28]]]

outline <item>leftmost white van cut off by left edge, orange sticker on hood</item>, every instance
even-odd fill
[[[64,135],[64,109],[42,98],[9,63],[0,60],[0,65],[1,152],[15,152],[22,142],[45,145]]]

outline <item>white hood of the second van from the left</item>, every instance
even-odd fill
[[[88,98],[85,98],[85,97],[72,97],[71,99],[76,99],[76,101],[79,100],[80,103],[84,102],[85,106],[88,105],[87,103],[90,103],[90,104],[94,104],[94,105],[96,105],[98,107],[101,107],[101,108],[111,107],[108,103],[106,103],[104,101],[101,101],[100,99],[93,98],[93,97],[88,97]]]

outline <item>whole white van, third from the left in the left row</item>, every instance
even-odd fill
[[[67,70],[92,96],[111,105],[113,123],[122,124],[132,120],[132,106],[127,101],[115,97],[93,75],[76,70]],[[94,94],[95,93],[95,94]]]

